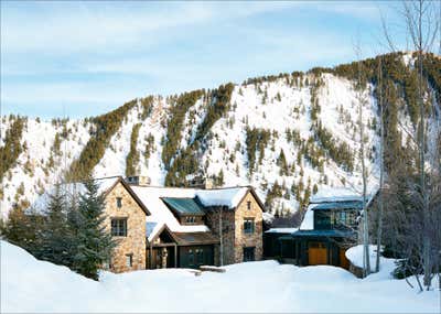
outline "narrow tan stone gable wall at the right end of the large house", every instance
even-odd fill
[[[248,209],[250,202],[250,209]],[[246,218],[255,219],[255,231],[252,234],[244,232],[244,220]],[[262,209],[257,203],[254,195],[248,192],[241,203],[235,210],[235,252],[234,262],[244,261],[244,248],[255,247],[256,260],[261,260],[263,256],[263,239],[262,239]]]

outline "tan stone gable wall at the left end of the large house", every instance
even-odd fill
[[[117,198],[121,198],[121,207]],[[106,196],[105,226],[110,232],[111,218],[127,219],[127,237],[115,237],[117,247],[110,262],[110,270],[125,272],[146,269],[146,213],[129,194],[126,187],[118,182]],[[131,256],[132,266],[128,266],[128,256]]]

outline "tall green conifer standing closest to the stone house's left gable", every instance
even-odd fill
[[[77,230],[78,247],[73,268],[78,273],[98,280],[98,269],[107,262],[116,246],[104,226],[105,198],[92,180],[84,183],[86,193],[79,195]]]

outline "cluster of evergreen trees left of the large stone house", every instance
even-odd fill
[[[84,191],[67,192],[72,187]],[[0,225],[0,235],[40,260],[98,280],[98,270],[109,263],[116,247],[104,226],[104,210],[105,198],[94,180],[56,184],[43,210],[14,207]]]

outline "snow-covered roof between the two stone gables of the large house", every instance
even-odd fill
[[[172,232],[209,231],[206,225],[181,225],[162,198],[197,198],[203,206],[227,206],[234,208],[245,196],[248,187],[218,190],[196,190],[180,187],[130,186],[139,199],[149,209],[146,217],[146,236],[151,241],[164,225]]]

